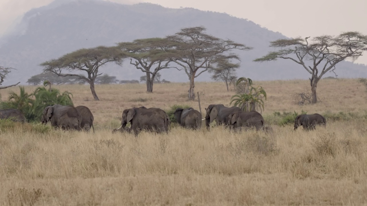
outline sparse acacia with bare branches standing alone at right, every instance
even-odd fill
[[[277,51],[255,59],[255,62],[265,62],[290,59],[301,65],[311,74],[310,85],[312,103],[317,103],[317,82],[327,71],[334,71],[337,63],[351,59],[356,60],[367,49],[367,36],[359,32],[343,32],[338,36],[317,36],[312,41],[306,38],[279,39],[270,42],[270,47]]]

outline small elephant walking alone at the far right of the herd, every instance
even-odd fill
[[[315,129],[316,125],[326,126],[326,119],[321,114],[301,114],[294,119],[293,129],[296,130],[301,125],[306,130]]]

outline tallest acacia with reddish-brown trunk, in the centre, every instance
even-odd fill
[[[228,54],[233,49],[250,50],[244,44],[223,40],[205,33],[203,26],[183,28],[167,38],[175,43],[174,62],[183,67],[190,80],[189,100],[195,100],[194,79],[210,68],[211,61],[218,58],[239,59],[235,54]],[[199,71],[201,70],[201,71]]]

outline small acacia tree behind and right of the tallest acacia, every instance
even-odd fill
[[[236,69],[240,67],[239,63],[231,63],[228,59],[217,59],[215,66],[209,72],[213,73],[211,78],[215,81],[223,81],[226,84],[227,92],[229,92],[228,84],[236,77]]]

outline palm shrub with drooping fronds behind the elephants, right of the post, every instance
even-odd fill
[[[233,95],[229,104],[234,104],[236,107],[240,107],[243,111],[258,111],[262,113],[264,110],[264,100],[266,100],[265,89],[258,86],[252,86],[252,80],[250,78],[241,77],[237,80],[236,85],[244,84],[243,93],[237,93]]]

